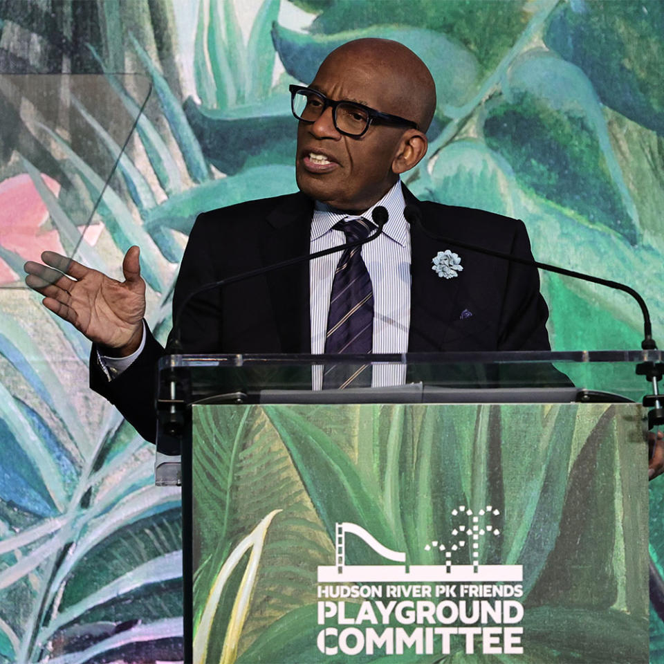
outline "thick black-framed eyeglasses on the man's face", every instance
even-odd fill
[[[291,85],[288,89],[291,91],[291,109],[297,120],[312,124],[322,116],[327,107],[331,107],[335,129],[346,136],[353,138],[364,136],[371,122],[403,124],[405,127],[417,129],[417,123],[412,120],[381,113],[364,104],[343,100],[335,102],[320,92],[301,85]]]

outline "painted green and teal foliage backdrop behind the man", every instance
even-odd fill
[[[177,658],[182,633],[178,493],[151,486],[151,449],[89,393],[88,344],[21,264],[64,250],[119,277],[137,243],[163,338],[196,213],[295,189],[288,84],[348,39],[398,39],[432,69],[416,195],[524,219],[539,259],[637,286],[663,337],[659,0],[0,0],[0,30],[2,73],[103,89],[35,77],[39,99],[17,104],[0,77],[0,662]],[[555,349],[638,347],[623,295],[543,291]],[[664,661],[654,612],[651,631]]]

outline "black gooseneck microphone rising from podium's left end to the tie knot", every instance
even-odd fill
[[[376,224],[376,230],[367,236],[365,239],[356,240],[353,242],[347,242],[345,244],[340,244],[335,247],[330,247],[329,249],[322,249],[320,251],[313,252],[313,254],[306,254],[304,256],[297,256],[295,258],[288,259],[286,261],[281,261],[273,265],[268,265],[263,268],[257,268],[255,270],[249,270],[248,272],[243,272],[239,275],[232,275],[230,277],[225,277],[224,279],[219,279],[216,282],[210,282],[209,284],[203,284],[199,288],[194,289],[191,293],[187,293],[187,296],[183,300],[182,304],[178,307],[173,318],[173,329],[171,335],[169,336],[168,343],[166,344],[166,353],[167,355],[174,355],[176,353],[182,352],[182,342],[180,339],[180,325],[182,320],[182,315],[187,308],[187,305],[201,293],[207,293],[208,291],[213,291],[215,288],[223,288],[229,284],[235,284],[236,282],[241,282],[244,279],[250,279],[251,277],[259,277],[260,275],[266,275],[275,270],[281,270],[282,268],[287,268],[291,265],[296,265],[298,263],[304,263],[307,261],[313,261],[315,258],[320,258],[322,256],[327,256],[329,254],[334,254],[338,251],[343,251],[344,249],[352,249],[353,247],[358,247],[362,244],[367,244],[375,240],[381,233],[382,229],[387,223],[388,214],[387,210],[382,206],[378,205],[371,212],[371,219]]]

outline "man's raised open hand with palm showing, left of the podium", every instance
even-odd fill
[[[25,264],[26,284],[44,295],[46,308],[100,344],[102,353],[131,355],[140,346],[145,315],[139,252],[136,246],[129,248],[122,261],[124,282],[118,282],[66,256],[45,251],[45,265]]]

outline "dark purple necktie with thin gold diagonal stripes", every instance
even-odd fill
[[[333,225],[347,242],[365,239],[374,225],[360,219],[342,219]],[[326,353],[371,353],[374,338],[374,290],[362,259],[362,246],[346,249],[334,273],[327,315]],[[323,389],[371,385],[371,367],[326,365]]]

